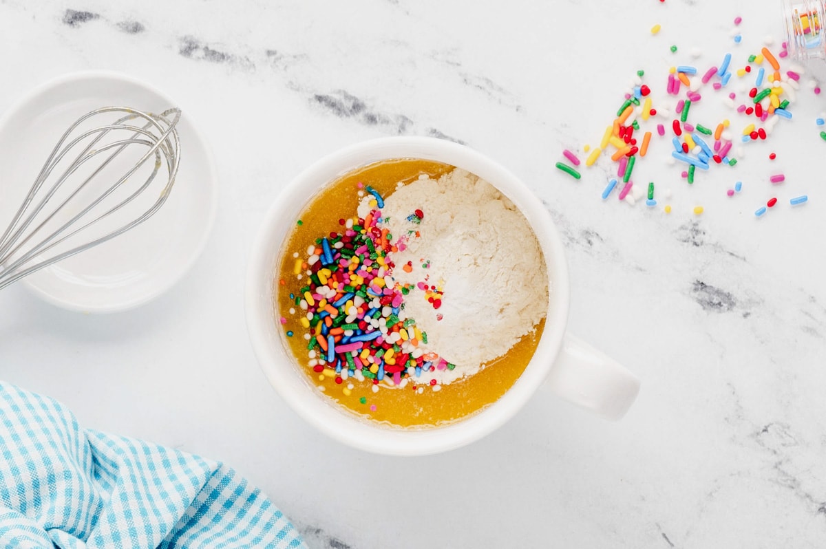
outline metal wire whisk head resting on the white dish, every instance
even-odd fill
[[[112,121],[116,116],[121,117],[110,123],[102,120],[97,122],[98,118],[103,117]],[[169,197],[178,174],[180,143],[175,126],[180,117],[181,111],[178,108],[150,114],[123,106],[107,106],[88,112],[69,126],[40,169],[40,174],[17,214],[0,236],[0,290],[43,267],[107,242],[154,215]],[[84,129],[93,124],[101,125]],[[140,147],[145,152],[122,175],[118,172],[116,176],[101,176],[101,173],[106,173],[104,168],[114,159],[118,156],[123,159],[124,151],[129,150],[131,154],[135,154],[134,149]],[[128,187],[129,178],[151,159],[154,159],[151,173],[140,187],[131,191]],[[59,169],[55,169],[58,167]],[[162,170],[167,176],[166,185],[154,204],[115,230],[102,235],[87,235],[93,234],[89,229],[102,219],[121,210],[145,192]],[[60,175],[53,177],[53,171]],[[108,181],[104,181],[106,177],[109,177]],[[88,187],[96,178],[104,181],[101,187],[103,190],[97,196],[93,193],[90,200],[83,196],[82,190],[96,188]],[[112,184],[107,187],[109,181]],[[121,189],[121,193],[128,193],[123,200],[118,195],[113,195],[118,189]],[[68,196],[65,196],[67,193]],[[113,198],[106,201],[110,196]],[[102,203],[102,206],[96,208]],[[71,206],[67,208],[69,204]],[[61,211],[64,216],[69,212],[69,220],[55,218]],[[74,211],[77,213],[73,215]],[[58,226],[55,228],[50,225]],[[78,240],[78,243],[73,240]],[[63,249],[67,247],[68,249]]]

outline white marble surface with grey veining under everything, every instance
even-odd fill
[[[826,97],[804,78],[793,121],[691,187],[654,140],[635,175],[672,190],[670,215],[601,201],[608,159],[579,182],[553,169],[596,144],[637,69],[661,98],[672,64],[730,51],[736,68],[782,31],[780,2],[743,0],[0,0],[0,109],[62,73],[126,72],[178,98],[221,175],[206,252],[157,301],[78,315],[2,291],[0,377],[88,427],[235,466],[311,547],[824,547]],[[745,125],[702,93],[695,121]],[[570,252],[570,328],[643,379],[622,422],[539,394],[479,443],[397,459],[327,440],[270,389],[242,300],[259,220],[308,163],[396,134],[461,140],[544,201]]]

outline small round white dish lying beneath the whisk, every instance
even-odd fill
[[[79,116],[101,106],[161,112],[179,105],[118,73],[71,73],[31,91],[0,119],[0,165],[7,185],[0,186],[0,232],[59,137]],[[164,206],[125,234],[29,275],[22,281],[28,289],[65,309],[107,313],[154,299],[188,272],[215,220],[218,177],[207,140],[186,111],[177,128],[181,163]],[[126,215],[124,221],[132,219]]]

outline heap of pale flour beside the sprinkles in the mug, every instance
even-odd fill
[[[416,210],[420,222],[408,220]],[[364,201],[359,215],[367,211]],[[489,183],[460,169],[439,181],[423,177],[387,196],[382,214],[401,244],[392,253],[393,278],[415,286],[399,316],[415,319],[427,334],[425,348],[456,365],[422,372],[419,382],[478,372],[544,317],[549,285],[539,243],[525,216]],[[402,268],[408,262],[411,272]],[[441,289],[438,309],[420,283]]]

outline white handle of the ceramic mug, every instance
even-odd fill
[[[563,399],[614,420],[624,416],[639,392],[637,376],[567,333],[545,385]]]

